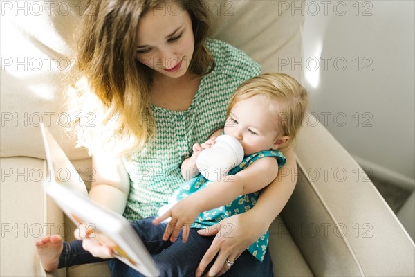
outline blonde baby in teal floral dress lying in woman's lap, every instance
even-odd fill
[[[182,175],[188,181],[174,193],[174,206],[160,217],[131,222],[161,276],[194,274],[213,240],[199,233],[255,205],[261,189],[277,177],[278,168],[286,163],[279,150],[292,145],[307,107],[306,90],[286,74],[266,73],[237,88],[228,105],[224,128],[205,143],[194,144],[192,156],[183,161]],[[230,176],[208,181],[199,174],[196,158],[221,134],[239,140],[244,158],[230,170]],[[46,271],[102,261],[84,251],[82,241],[62,242],[58,235],[38,240],[36,246]],[[267,247],[268,231],[247,250],[261,262]],[[111,256],[111,249],[109,252]],[[230,266],[234,261],[226,262]]]

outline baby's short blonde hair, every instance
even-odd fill
[[[252,96],[264,96],[275,105],[280,136],[289,139],[280,149],[288,148],[295,141],[308,109],[308,93],[297,80],[284,73],[265,73],[239,85],[230,99],[227,117],[235,105]],[[249,111],[247,111],[249,112]]]

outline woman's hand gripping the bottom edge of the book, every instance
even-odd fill
[[[82,240],[82,247],[94,257],[114,258],[112,249],[116,245],[106,235],[95,231],[93,224],[78,225],[74,234],[77,240]]]

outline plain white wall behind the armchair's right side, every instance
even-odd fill
[[[304,66],[320,123],[362,166],[407,187],[415,178],[414,8],[307,1],[304,61],[289,64]]]

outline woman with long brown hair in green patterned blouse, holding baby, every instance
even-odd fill
[[[93,154],[97,172],[90,197],[129,220],[156,215],[183,182],[180,165],[192,145],[225,123],[233,91],[260,73],[241,51],[207,39],[209,31],[202,1],[91,1],[85,12],[76,88],[78,111],[96,116],[92,126],[78,123],[79,143]],[[284,155],[288,163],[254,208],[203,233],[216,237],[196,276],[212,261],[208,276],[272,275],[269,251],[257,262],[246,249],[293,192],[295,154]],[[86,239],[83,246],[111,257],[104,245]],[[134,274],[122,262],[111,267]]]

